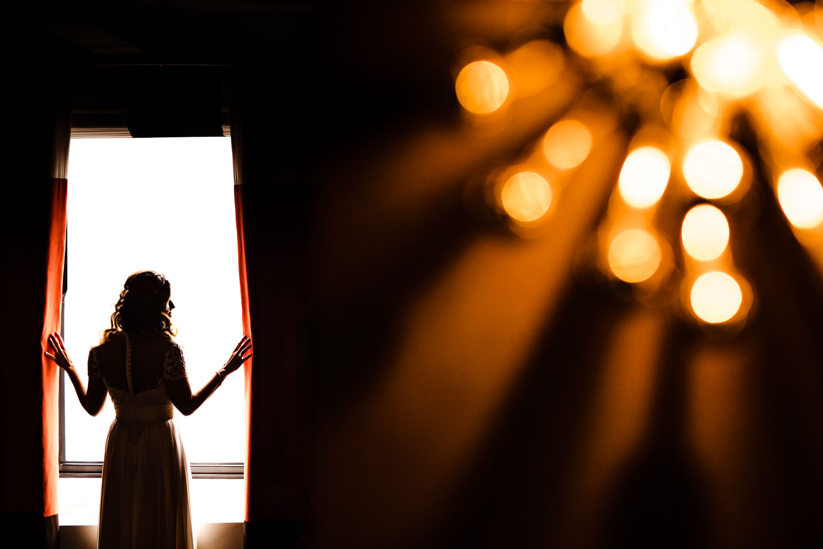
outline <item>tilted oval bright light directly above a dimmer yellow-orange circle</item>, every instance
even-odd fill
[[[662,150],[640,147],[623,163],[617,186],[623,200],[635,208],[655,204],[666,190],[671,164]]]

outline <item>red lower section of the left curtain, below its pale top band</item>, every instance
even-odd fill
[[[66,190],[53,178],[14,201],[31,217],[9,242],[15,262],[3,279],[2,512],[18,528],[43,528],[46,546],[58,526],[58,367],[43,352],[60,329]]]

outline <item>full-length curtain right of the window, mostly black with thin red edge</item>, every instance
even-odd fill
[[[288,67],[233,75],[231,140],[244,333],[245,547],[295,547],[306,514],[305,187],[295,180]],[[282,95],[282,96],[280,96]]]

